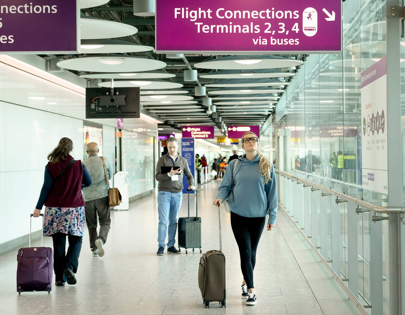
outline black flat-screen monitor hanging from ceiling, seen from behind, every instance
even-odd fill
[[[139,87],[87,87],[86,118],[139,118]]]

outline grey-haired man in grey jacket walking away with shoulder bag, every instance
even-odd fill
[[[87,144],[87,154],[89,157],[83,161],[90,176],[92,185],[83,188],[83,198],[85,201],[85,215],[87,229],[90,236],[90,248],[93,256],[104,256],[104,244],[107,241],[108,232],[110,231],[110,206],[108,202],[108,192],[110,190],[105,178],[104,166],[101,158],[97,155],[98,145],[95,142]],[[111,166],[107,159],[104,158],[108,178],[111,179],[113,174]],[[100,222],[100,232],[97,233],[97,215]]]

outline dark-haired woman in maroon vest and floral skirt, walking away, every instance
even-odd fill
[[[69,154],[73,142],[62,138],[48,155],[44,184],[41,189],[34,217],[39,217],[45,204],[44,236],[53,239],[53,270],[55,284],[76,284],[75,273],[84,230],[84,200],[81,188],[92,184],[92,178],[81,161]],[[69,247],[65,253],[66,235]]]

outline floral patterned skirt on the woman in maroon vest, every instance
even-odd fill
[[[55,233],[83,236],[84,224],[84,207],[45,208],[44,236],[52,236]]]

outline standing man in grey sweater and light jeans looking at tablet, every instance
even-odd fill
[[[167,252],[179,254],[180,251],[175,247],[175,236],[177,230],[177,217],[180,211],[181,201],[183,199],[183,174],[188,181],[188,189],[195,189],[194,177],[190,172],[187,160],[183,158],[177,149],[179,141],[176,138],[169,138],[167,142],[168,153],[159,158],[156,165],[155,178],[158,184],[158,252],[156,255],[163,255],[168,232]],[[171,166],[171,171],[162,174],[161,166]],[[173,170],[173,166],[179,166],[178,170]],[[169,228],[167,229],[167,222]]]

